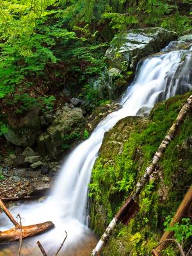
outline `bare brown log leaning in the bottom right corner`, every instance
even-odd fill
[[[192,204],[192,186],[189,188],[181,204],[179,205],[179,208],[177,209],[177,212],[175,213],[173,220],[170,223],[170,227],[172,227],[175,223],[179,222],[182,219],[182,217],[186,214],[186,211],[188,210],[191,204]],[[172,236],[173,236],[172,231],[164,232],[156,249],[152,250],[152,253],[154,256],[161,256],[161,252],[168,246],[168,243],[170,241],[169,239],[171,239]]]

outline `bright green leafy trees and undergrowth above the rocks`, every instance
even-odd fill
[[[104,69],[104,47],[111,35],[143,26],[163,26],[180,32],[190,27],[190,3],[1,1],[2,107],[12,108],[15,113],[36,105],[52,109],[63,88],[98,104],[100,94],[92,87],[90,78]]]

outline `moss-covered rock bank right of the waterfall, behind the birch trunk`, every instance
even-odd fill
[[[92,228],[96,234],[102,234],[131,193],[188,97],[186,93],[156,104],[149,118],[124,118],[105,134],[90,184]],[[116,229],[103,255],[150,255],[157,245],[166,216],[177,210],[192,181],[191,113],[157,169],[159,172],[141,194],[140,212],[129,227]],[[188,246],[189,239],[184,249]],[[177,255],[177,250],[170,246],[164,255]]]

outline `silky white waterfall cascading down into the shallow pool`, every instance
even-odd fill
[[[38,240],[49,255],[54,255],[65,236],[64,230],[68,234],[63,246],[64,254],[89,255],[97,239],[87,225],[88,184],[104,133],[126,116],[144,115],[156,102],[191,90],[191,67],[191,51],[163,52],[139,63],[134,82],[120,100],[122,108],[104,118],[90,138],[74,148],[63,163],[47,200],[22,203],[10,209],[13,216],[20,213],[22,225],[51,220],[56,226],[38,237],[27,239],[21,255],[40,255],[36,246]],[[12,227],[3,214],[0,227],[2,231]],[[15,250],[15,245],[1,246],[0,255],[15,255]]]

